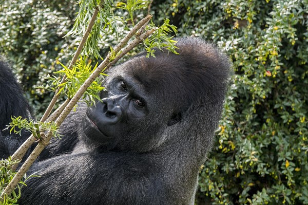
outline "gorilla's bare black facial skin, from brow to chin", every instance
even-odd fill
[[[140,124],[148,115],[148,97],[136,82],[124,73],[109,76],[108,91],[101,93],[103,102],[89,107],[83,131],[96,142],[109,143]]]

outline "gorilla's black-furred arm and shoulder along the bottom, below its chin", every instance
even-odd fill
[[[167,182],[149,155],[89,153],[39,162],[22,190],[21,204],[187,204],[168,203]],[[50,196],[52,196],[50,199]],[[174,199],[176,200],[176,199]],[[179,200],[179,199],[177,199]],[[176,201],[174,201],[176,202]]]

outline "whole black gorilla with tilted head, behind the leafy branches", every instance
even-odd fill
[[[102,102],[72,111],[29,170],[18,203],[194,204],[199,167],[214,141],[231,63],[213,44],[177,39],[177,52],[141,53],[108,72]],[[30,107],[0,65],[1,128]],[[13,85],[11,88],[9,86]],[[11,89],[11,90],[10,90]],[[1,137],[2,156],[24,139]],[[17,138],[17,139],[16,139]]]

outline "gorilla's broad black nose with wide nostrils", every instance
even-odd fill
[[[104,103],[103,113],[106,116],[106,121],[109,123],[117,123],[122,118],[122,110],[113,98],[103,98]]]

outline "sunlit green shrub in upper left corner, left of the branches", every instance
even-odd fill
[[[4,1],[0,3],[0,53],[12,62],[38,116],[51,100],[50,93],[34,89],[47,73],[61,69],[75,46],[63,36],[72,26],[78,7],[74,1]]]

